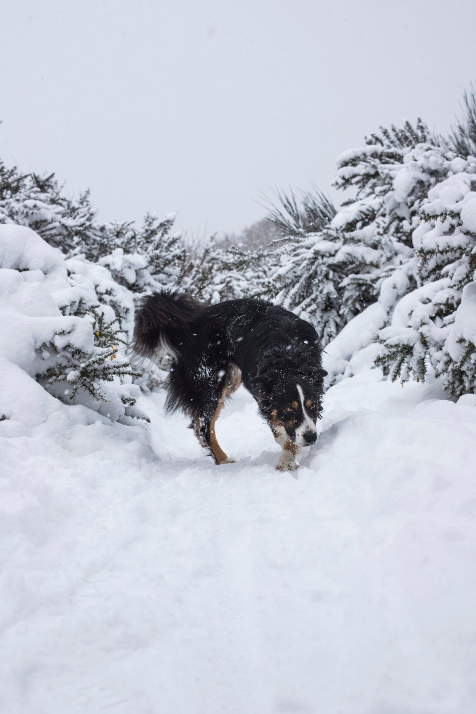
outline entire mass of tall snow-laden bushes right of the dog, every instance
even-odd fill
[[[418,120],[345,151],[334,185],[353,198],[317,231],[305,233],[295,200],[270,214],[290,233],[273,297],[317,328],[329,383],[375,364],[402,382],[430,370],[452,395],[476,391],[476,159]]]

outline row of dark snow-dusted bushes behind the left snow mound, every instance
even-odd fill
[[[170,213],[160,221],[148,213],[139,228],[131,222],[101,223],[88,191],[78,200],[67,198],[54,174],[21,174],[0,161],[0,224],[28,226],[69,258],[79,256],[108,268],[113,283],[108,304],[121,321],[127,316],[113,296],[117,286],[140,297],[181,286],[193,270],[181,233],[172,233],[175,218]]]

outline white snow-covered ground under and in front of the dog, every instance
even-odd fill
[[[362,373],[293,478],[244,391],[219,468],[162,403],[0,439],[2,714],[476,710],[474,407]]]

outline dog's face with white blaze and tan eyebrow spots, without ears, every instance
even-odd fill
[[[276,434],[286,435],[297,446],[311,446],[318,435],[315,422],[318,418],[318,403],[304,382],[293,384],[278,398],[272,411],[273,429]]]

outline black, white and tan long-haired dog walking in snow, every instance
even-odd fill
[[[296,454],[315,443],[327,372],[315,329],[288,310],[256,298],[208,306],[186,293],[155,292],[136,313],[132,349],[156,362],[164,351],[171,356],[166,411],[191,417],[216,464],[233,463],[215,426],[241,383],[282,448],[279,471],[294,471]]]

